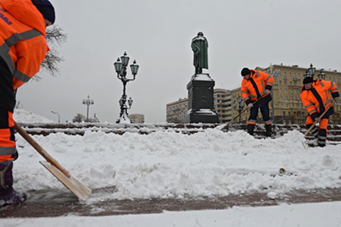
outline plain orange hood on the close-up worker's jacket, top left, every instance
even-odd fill
[[[31,0],[0,0],[0,5],[15,19],[46,36],[44,18]]]

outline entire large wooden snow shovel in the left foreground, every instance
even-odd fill
[[[79,200],[85,201],[89,198],[91,190],[82,185],[74,177],[72,177],[59,163],[48,154],[34,139],[25,132],[17,122],[14,122],[16,131],[43,156],[46,161],[39,161],[47,170],[49,170],[66,188],[71,190]]]

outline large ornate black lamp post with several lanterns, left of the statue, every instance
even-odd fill
[[[127,110],[132,107],[133,99],[132,97],[130,97],[127,100],[126,85],[129,81],[135,80],[139,66],[136,64],[136,60],[134,60],[133,64],[130,65],[130,69],[132,70],[132,74],[133,74],[133,79],[128,79],[127,78],[128,63],[129,63],[129,57],[127,56],[126,52],[124,52],[123,56],[121,56],[121,59],[118,57],[117,61],[114,63],[114,68],[117,73],[117,78],[121,80],[123,84],[123,95],[118,101],[121,111],[119,114],[119,118],[116,120],[116,123],[131,123],[130,119],[128,118]],[[128,101],[129,108],[126,105],[127,101]]]

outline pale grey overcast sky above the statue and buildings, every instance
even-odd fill
[[[124,51],[140,65],[127,85],[130,114],[146,123],[166,121],[166,103],[187,97],[194,73],[190,42],[208,39],[209,73],[215,88],[240,86],[243,67],[298,64],[341,71],[340,0],[51,0],[56,24],[68,34],[58,48],[60,75],[18,91],[23,108],[50,119],[89,115],[114,122],[122,83],[113,63]],[[129,69],[128,75],[131,76]]]

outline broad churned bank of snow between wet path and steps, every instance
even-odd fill
[[[43,158],[38,152],[19,135],[16,138],[15,187],[64,189],[39,165]],[[298,131],[276,139],[214,129],[192,135],[86,131],[80,136],[58,132],[35,135],[34,139],[91,189],[116,188],[114,193],[94,194],[89,203],[341,187],[341,145],[305,149],[304,136]],[[281,168],[295,174],[281,176]]]

